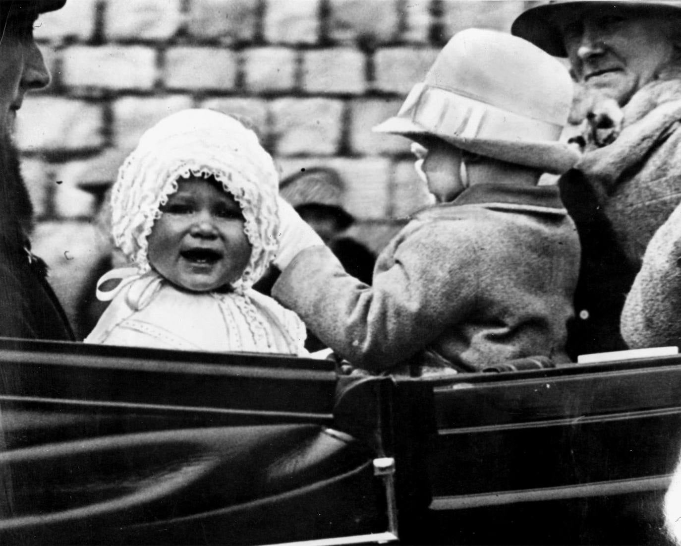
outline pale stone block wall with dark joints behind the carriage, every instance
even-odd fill
[[[99,211],[148,127],[208,107],[249,117],[282,175],[332,166],[355,234],[379,249],[422,207],[409,142],[371,127],[397,112],[456,31],[507,31],[528,2],[68,0],[35,36],[52,71],[17,142],[39,216],[35,248],[69,314],[109,251]]]

